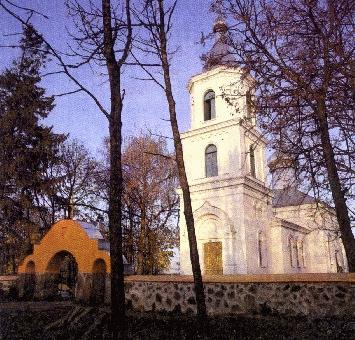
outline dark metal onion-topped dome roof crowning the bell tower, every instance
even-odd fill
[[[231,66],[237,65],[236,59],[231,51],[231,46],[228,44],[227,36],[228,27],[222,20],[217,20],[213,27],[215,33],[215,43],[211,50],[202,56],[204,61],[203,71],[209,71],[217,66]]]

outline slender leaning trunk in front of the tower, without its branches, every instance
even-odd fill
[[[190,258],[191,258],[192,273],[193,273],[194,284],[195,284],[197,315],[200,318],[204,319],[207,316],[205,293],[203,289],[200,259],[199,259],[198,249],[197,249],[195,223],[194,223],[194,216],[192,213],[190,188],[186,176],[182,143],[180,138],[178,122],[176,119],[175,100],[174,100],[171,81],[170,81],[170,66],[169,66],[168,54],[167,54],[167,40],[166,40],[165,19],[164,19],[165,12],[164,12],[163,0],[159,0],[159,13],[160,13],[159,39],[161,44],[160,53],[161,53],[162,68],[164,73],[165,95],[169,106],[170,123],[173,131],[175,154],[176,154],[175,157],[176,157],[176,163],[178,167],[180,186],[181,186],[183,200],[184,200],[184,215],[185,215],[187,234],[188,234],[189,245],[190,245]]]

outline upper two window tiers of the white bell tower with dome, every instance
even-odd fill
[[[223,21],[216,21],[215,43],[202,57],[203,72],[188,83],[191,128],[182,139],[190,185],[208,177],[218,181],[250,175],[265,181],[266,141],[256,129],[253,80],[238,67],[227,30]],[[210,176],[209,160],[215,160],[218,176]]]

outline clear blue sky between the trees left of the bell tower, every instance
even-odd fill
[[[64,0],[22,0],[16,3],[37,9],[49,16],[49,20],[34,16],[32,22],[53,46],[60,50],[66,49],[68,37],[65,27],[70,27],[71,19],[67,16]],[[84,4],[85,1],[81,3]],[[173,88],[180,130],[185,131],[190,123],[186,85],[191,76],[201,72],[200,56],[208,47],[202,46],[199,40],[201,32],[208,34],[211,31],[214,16],[209,12],[207,0],[179,0],[174,19],[170,45],[179,46],[180,49],[172,61]],[[18,37],[7,35],[21,32],[18,22],[2,10],[0,22],[0,45],[16,42]],[[14,49],[0,49],[0,71],[10,65],[16,53]],[[168,118],[163,92],[152,82],[133,79],[135,76],[142,76],[139,72],[141,70],[137,67],[126,68],[124,72],[124,135],[134,134],[141,128],[149,127],[170,136],[170,124],[162,120]],[[79,77],[108,107],[107,84],[102,84],[102,78],[88,70],[81,71]],[[65,76],[47,77],[43,86],[47,88],[48,94],[58,94],[74,88]],[[53,125],[56,132],[70,133],[71,138],[81,140],[92,152],[97,152],[103,138],[108,134],[106,118],[85,94],[57,98],[56,107],[46,123]]]

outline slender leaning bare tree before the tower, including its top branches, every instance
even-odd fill
[[[147,67],[140,63],[148,75],[148,79],[154,81],[164,91],[169,108],[179,182],[183,193],[184,215],[190,245],[190,258],[194,277],[197,314],[203,319],[207,315],[205,294],[197,249],[190,188],[186,176],[184,155],[176,117],[176,105],[170,74],[170,58],[173,53],[168,49],[168,39],[171,34],[172,15],[176,8],[177,1],[171,1],[169,4],[166,4],[166,1],[164,0],[146,0],[144,3],[145,6],[143,10],[136,10],[135,12],[138,22],[144,28],[141,38],[137,39],[136,47],[144,54],[150,55],[158,60],[162,71],[162,79],[160,79],[161,77],[159,78],[156,73],[151,72]],[[134,55],[133,57],[139,63],[138,58]]]

